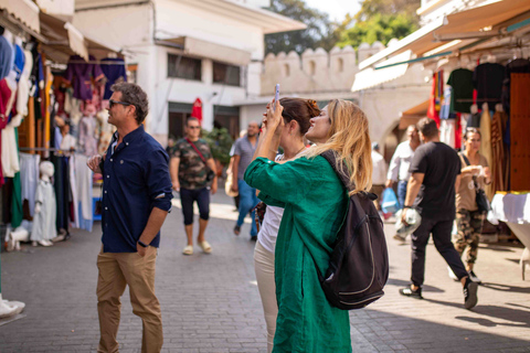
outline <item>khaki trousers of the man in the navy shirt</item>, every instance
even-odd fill
[[[129,286],[132,312],[142,321],[142,353],[158,353],[162,349],[162,315],[155,296],[155,265],[157,248],[149,246],[146,256],[138,253],[103,253],[97,256],[97,313],[100,340],[97,352],[118,352],[118,333],[121,301]]]

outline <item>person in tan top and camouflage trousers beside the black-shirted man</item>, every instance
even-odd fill
[[[485,212],[478,208],[477,191],[484,185],[491,183],[491,173],[488,161],[478,153],[480,149],[480,131],[476,128],[468,128],[464,135],[465,151],[459,153],[462,163],[462,181],[456,193],[456,226],[458,233],[454,238],[455,248],[458,254],[466,252],[466,269],[469,278],[480,284],[481,280],[475,275],[474,266],[477,260],[478,243]],[[452,277],[456,276],[451,271]]]

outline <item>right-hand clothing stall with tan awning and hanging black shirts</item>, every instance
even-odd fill
[[[395,60],[409,52],[412,53],[409,60]],[[488,220],[507,222],[527,248],[530,247],[530,212],[526,212],[530,210],[527,203],[529,56],[530,2],[510,0],[488,1],[441,17],[360,63],[368,74],[369,69],[377,73],[423,64],[432,77],[430,99],[403,110],[400,128],[420,117],[431,117],[438,122],[442,141],[457,150],[463,148],[466,128],[479,129],[480,153],[492,173],[492,183],[486,188],[492,201]],[[524,254],[529,256],[528,249]]]

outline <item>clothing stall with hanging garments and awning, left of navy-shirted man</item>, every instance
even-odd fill
[[[127,79],[125,58],[31,1],[0,4],[1,233],[31,233],[41,226],[32,224],[40,211],[54,227],[23,240],[46,246],[68,238],[71,228],[92,231],[97,218],[98,181],[86,161],[110,141],[106,107],[110,85]],[[43,178],[49,171],[40,171],[43,161],[53,163],[50,181]],[[40,197],[46,183],[53,202]]]

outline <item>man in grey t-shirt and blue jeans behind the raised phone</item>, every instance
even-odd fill
[[[256,196],[256,189],[251,188],[244,180],[243,175],[245,170],[252,161],[252,157],[257,147],[259,133],[259,126],[257,122],[252,121],[248,124],[246,136],[237,139],[234,143],[234,161],[232,164],[232,173],[234,178],[237,178],[237,182],[232,184],[232,191],[240,193],[240,215],[234,226],[234,234],[240,235],[241,226],[245,221],[246,215],[257,205],[258,200]],[[251,240],[257,239],[257,227],[254,222],[255,211],[251,213]]]

